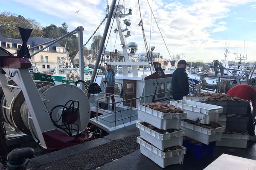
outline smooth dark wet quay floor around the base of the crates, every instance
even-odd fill
[[[234,152],[230,152],[230,147],[215,147],[213,156],[205,156],[204,158],[197,160],[190,156],[185,155],[183,164],[175,164],[166,167],[166,170],[203,170],[215,159],[221,156],[222,153],[229,155],[239,156],[243,158],[256,160],[256,142],[248,142],[247,149],[232,148]],[[255,162],[256,163],[256,162]],[[256,166],[256,164],[255,164]],[[99,170],[162,170],[160,166],[148,159],[146,156],[140,153],[140,150],[136,150],[127,156],[109,162],[100,167]]]

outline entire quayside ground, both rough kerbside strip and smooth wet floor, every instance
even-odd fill
[[[31,159],[26,170],[160,170],[153,161],[140,153],[136,142],[140,136],[134,128],[101,139],[79,144]],[[196,160],[187,155],[183,164],[170,165],[166,170],[203,170],[222,153],[256,160],[256,142],[249,142],[246,149],[215,147],[213,156]]]

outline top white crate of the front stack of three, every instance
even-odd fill
[[[180,129],[181,119],[186,119],[186,113],[163,113],[137,104],[138,119],[147,122],[158,129]]]

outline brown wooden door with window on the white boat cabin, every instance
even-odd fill
[[[136,98],[136,80],[124,80],[124,100]],[[136,99],[125,101],[124,106],[136,106]]]

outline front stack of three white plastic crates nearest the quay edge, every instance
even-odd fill
[[[140,129],[140,152],[165,168],[171,164],[182,164],[186,147],[182,146],[184,130],[180,128],[181,119],[186,113],[163,113],[137,104]]]

